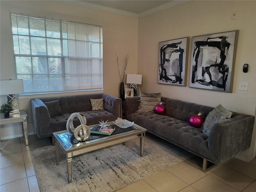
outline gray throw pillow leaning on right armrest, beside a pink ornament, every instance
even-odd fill
[[[216,106],[206,117],[203,124],[203,132],[206,135],[210,135],[212,126],[219,121],[230,119],[232,112],[225,109],[222,105]]]

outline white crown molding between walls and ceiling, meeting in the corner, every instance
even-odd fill
[[[110,7],[106,7],[106,6],[102,6],[102,5],[97,5],[97,4],[93,4],[93,3],[89,3],[89,2],[83,2],[83,1],[79,1],[79,0],[58,0],[58,1],[63,2],[63,3],[78,5],[78,6],[84,6],[84,7],[88,7],[88,8],[92,8],[92,9],[102,10],[102,11],[106,11],[106,12],[111,12],[111,13],[115,13],[115,14],[120,14],[120,15],[124,15],[124,16],[140,18],[140,17],[144,17],[147,15],[153,14],[158,11],[165,10],[170,7],[180,5],[182,3],[186,3],[190,0],[173,0],[166,4],[162,4],[160,6],[157,6],[155,8],[152,8],[150,10],[144,11],[139,14],[124,11],[124,10],[119,10],[119,9],[115,9],[115,8],[110,8]]]

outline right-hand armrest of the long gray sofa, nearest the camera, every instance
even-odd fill
[[[214,124],[208,138],[208,147],[213,156],[218,158],[218,164],[250,147],[253,127],[254,116],[246,114],[238,114]]]

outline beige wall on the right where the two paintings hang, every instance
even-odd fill
[[[142,74],[144,92],[162,92],[162,96],[198,104],[217,106],[250,115],[256,109],[256,1],[190,1],[139,19],[138,73]],[[231,20],[237,11],[237,19]],[[158,42],[190,37],[188,66],[190,66],[192,36],[239,30],[234,68],[233,92],[218,92],[157,83]],[[245,63],[248,73],[242,72]],[[248,91],[238,90],[239,82],[248,82]],[[242,96],[252,96],[242,98]],[[254,98],[253,98],[254,97]],[[256,128],[249,158],[255,156]]]

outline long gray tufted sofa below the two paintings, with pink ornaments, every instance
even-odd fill
[[[139,98],[128,97],[125,108],[126,119],[204,158],[203,171],[206,170],[207,161],[222,164],[250,147],[254,116],[233,112],[230,119],[214,124],[208,136],[203,133],[202,128],[190,126],[189,120],[192,115],[200,111],[203,112],[202,117],[206,118],[213,107],[166,97],[162,97],[162,102],[166,103],[164,115],[136,112]]]

